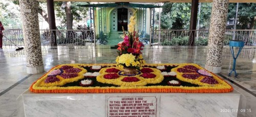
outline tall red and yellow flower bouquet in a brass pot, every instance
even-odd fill
[[[136,13],[136,12],[135,12]],[[128,24],[129,33],[126,35],[123,29],[123,41],[118,43],[118,56],[116,58],[117,67],[123,68],[126,74],[136,74],[136,69],[145,64],[141,50],[143,43],[139,41],[138,32],[135,31],[135,13],[130,18]]]

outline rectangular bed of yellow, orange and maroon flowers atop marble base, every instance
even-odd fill
[[[205,74],[200,74],[201,72],[194,72],[205,70],[196,64],[145,64],[141,66],[140,70],[143,68],[152,69],[153,72],[151,74],[156,75],[156,77],[144,78],[140,76],[144,73],[140,73],[134,76],[118,75],[119,77],[115,79],[105,79],[103,76],[105,74],[117,74],[105,72],[106,69],[115,68],[120,71],[123,70],[122,68],[116,67],[116,64],[95,64],[95,66],[101,66],[100,71],[88,74],[97,76],[96,78],[86,75],[86,69],[91,69],[92,66],[92,64],[65,64],[55,66],[48,73],[36,80],[30,86],[30,91],[34,93],[226,93],[233,90],[231,85],[214,73],[206,70],[207,73],[212,75],[206,76]],[[165,66],[166,70],[161,72],[156,69],[157,66]],[[63,78],[61,75],[48,76],[54,70],[67,70],[71,68],[81,69],[80,72],[75,73],[78,74],[77,77]],[[179,68],[182,68],[183,71],[178,72],[177,70]],[[61,74],[70,74],[66,73],[65,70]],[[193,72],[186,73],[184,71]],[[177,75],[169,76],[171,73],[177,73]],[[162,74],[167,74],[167,76]],[[183,77],[183,74],[189,78]],[[199,75],[199,77],[190,78],[195,74],[197,74],[196,76]],[[92,80],[93,84],[83,86],[80,84],[82,80]],[[180,82],[182,85],[176,85],[177,82]],[[74,86],[67,86],[70,84]]]

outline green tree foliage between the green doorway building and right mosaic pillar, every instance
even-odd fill
[[[161,28],[168,30],[188,29],[190,13],[190,3],[164,3],[161,13]],[[210,24],[210,14],[211,3],[202,3],[201,14],[199,16],[200,24],[206,28],[208,28]]]

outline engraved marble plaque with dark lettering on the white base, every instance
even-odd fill
[[[109,97],[108,117],[155,117],[157,98],[155,96]]]

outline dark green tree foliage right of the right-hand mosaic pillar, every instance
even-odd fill
[[[236,16],[237,3],[230,3],[228,7],[228,19]],[[238,7],[238,29],[253,30],[256,21],[256,3],[240,3]]]

